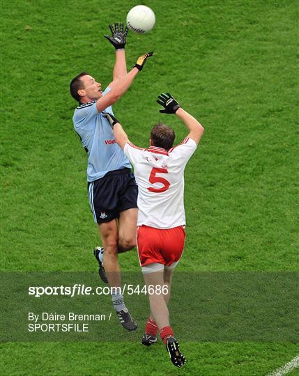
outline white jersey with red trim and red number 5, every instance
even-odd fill
[[[174,228],[185,225],[184,170],[197,148],[194,140],[184,141],[168,152],[151,146],[125,144],[125,155],[134,166],[139,193],[137,226]]]

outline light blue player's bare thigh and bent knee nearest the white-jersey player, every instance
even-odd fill
[[[136,246],[137,207],[124,210],[118,219],[118,252],[125,252]]]

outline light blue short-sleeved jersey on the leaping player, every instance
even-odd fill
[[[111,89],[106,88],[103,95]],[[109,106],[103,112],[114,114]],[[117,145],[109,121],[98,113],[96,101],[81,104],[75,109],[72,117],[74,128],[81,139],[81,143],[89,156],[87,164],[87,181],[102,178],[106,173],[113,170],[132,166],[125,157],[123,150]]]

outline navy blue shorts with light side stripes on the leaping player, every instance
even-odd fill
[[[98,224],[137,207],[138,187],[130,169],[109,171],[103,178],[88,182],[87,192],[93,219]]]

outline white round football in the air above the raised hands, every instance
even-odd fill
[[[155,13],[148,6],[135,6],[127,15],[128,28],[135,33],[148,33],[155,24]]]

